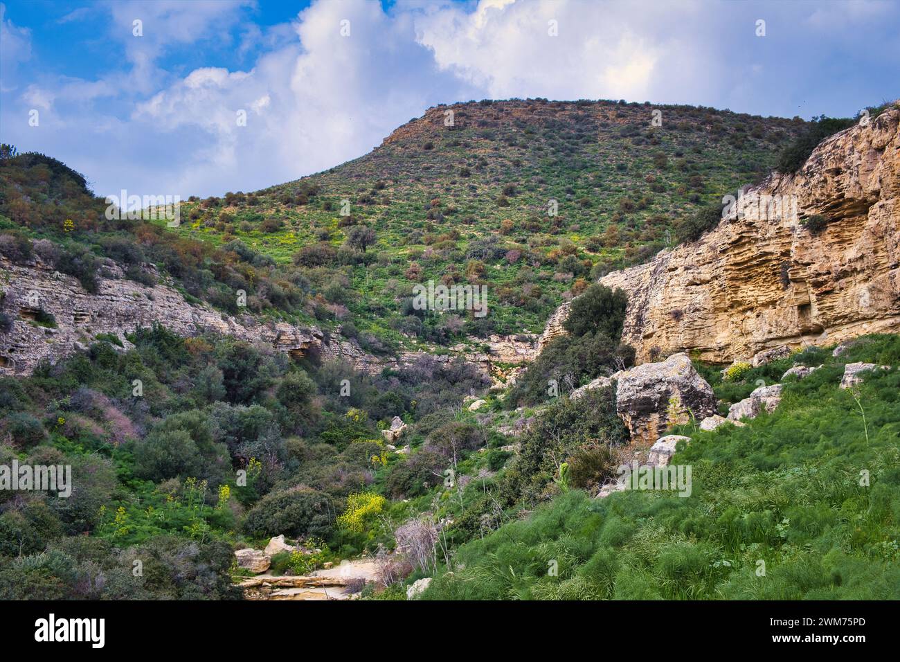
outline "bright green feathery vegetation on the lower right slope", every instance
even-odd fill
[[[856,389],[843,364],[893,365]],[[900,337],[875,336],[746,371],[701,367],[725,403],[795,362],[823,365],[771,414],[693,426],[672,459],[689,497],[563,491],[525,521],[462,546],[428,598],[897,599],[900,597]],[[550,572],[554,568],[554,572]]]

